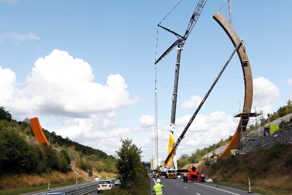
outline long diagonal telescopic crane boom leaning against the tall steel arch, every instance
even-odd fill
[[[219,78],[221,77],[223,71],[225,70],[226,66],[228,65],[228,63],[230,62],[230,60],[232,59],[233,55],[235,54],[235,52],[238,50],[238,48],[241,46],[242,41],[244,41],[244,39],[240,39],[239,43],[237,44],[237,46],[235,47],[234,51],[232,52],[231,56],[229,57],[229,59],[227,60],[227,62],[225,63],[224,67],[222,68],[222,70],[220,71],[219,75],[217,76],[217,78],[214,80],[213,84],[211,85],[210,89],[208,90],[208,92],[206,93],[205,97],[202,99],[200,105],[198,106],[197,110],[195,111],[195,113],[193,114],[193,116],[191,117],[191,119],[189,120],[189,122],[187,123],[186,127],[183,130],[183,133],[181,134],[181,136],[178,138],[178,140],[176,141],[176,143],[174,144],[174,146],[172,147],[172,150],[170,151],[170,153],[168,154],[168,156],[166,157],[164,164],[169,163],[169,161],[172,159],[172,156],[175,154],[176,149],[178,148],[179,144],[181,143],[184,134],[186,133],[186,131],[188,130],[188,128],[190,127],[190,125],[192,124],[193,120],[195,119],[195,117],[197,116],[198,112],[200,111],[202,105],[204,104],[204,102],[206,101],[206,99],[208,98],[210,92],[212,91],[212,89],[214,88],[215,84],[217,83],[217,81],[219,80]]]

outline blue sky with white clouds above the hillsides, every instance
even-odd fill
[[[157,24],[183,35],[198,0],[179,2],[0,0],[0,106],[18,121],[37,117],[48,131],[108,155],[116,154],[121,138],[132,139],[149,161],[156,157],[156,75],[158,158],[164,161],[177,50],[155,71],[155,58],[176,39],[162,28],[157,33]],[[232,26],[245,39],[251,65],[253,109],[266,118],[292,99],[292,1],[231,5]],[[183,46],[175,140],[234,50],[212,18],[219,10],[229,21],[227,0],[207,0]],[[186,132],[178,158],[233,135],[243,101],[235,55]]]

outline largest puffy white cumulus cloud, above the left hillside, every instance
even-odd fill
[[[114,109],[136,104],[129,98],[127,84],[121,75],[110,75],[107,85],[92,80],[91,66],[82,59],[73,59],[67,52],[54,50],[37,59],[32,75],[26,79],[39,112],[66,116]]]

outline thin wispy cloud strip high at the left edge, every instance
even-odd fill
[[[0,42],[3,42],[5,39],[12,39],[13,44],[17,45],[25,40],[40,40],[35,33],[28,33],[27,35],[19,34],[18,32],[12,31],[10,34],[0,35]]]

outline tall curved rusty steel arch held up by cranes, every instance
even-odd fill
[[[235,30],[228,23],[228,21],[219,12],[217,12],[213,16],[213,19],[219,23],[219,25],[223,28],[225,33],[228,35],[228,37],[232,41],[233,45],[236,47],[236,43],[238,43],[240,39],[237,36],[237,33],[235,32]],[[242,113],[251,113],[251,108],[253,104],[253,94],[254,94],[252,70],[251,70],[251,66],[250,66],[247,54],[245,53],[245,48],[243,45],[241,45],[240,48],[237,50],[237,54],[238,54],[241,67],[242,67],[244,89],[245,89]],[[245,132],[248,120],[249,120],[249,114],[241,115],[239,124],[237,126],[237,130],[234,136],[232,137],[231,141],[229,142],[227,148],[219,156],[220,158],[231,156],[230,150],[236,149],[240,141],[239,134],[242,132]]]

